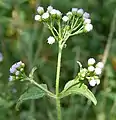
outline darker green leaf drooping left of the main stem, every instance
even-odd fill
[[[41,84],[41,85],[42,85],[42,87],[47,89],[46,84]],[[43,90],[41,90],[40,88],[31,86],[20,96],[20,98],[16,104],[16,109],[18,110],[20,105],[22,104],[22,102],[24,102],[26,100],[39,99],[45,95],[46,95],[46,93]]]

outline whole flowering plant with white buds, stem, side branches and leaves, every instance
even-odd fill
[[[95,105],[97,100],[93,93],[88,89],[85,81],[89,83],[90,86],[95,86],[100,84],[99,75],[104,67],[102,62],[96,64],[95,59],[90,58],[88,60],[88,68],[83,68],[82,64],[77,61],[80,66],[80,71],[77,73],[73,80],[69,80],[62,91],[59,91],[60,82],[60,68],[61,68],[61,57],[62,50],[69,37],[89,32],[93,29],[91,24],[90,15],[84,12],[83,9],[72,8],[72,11],[63,14],[54,9],[52,6],[48,6],[45,12],[43,7],[37,8],[38,14],[35,15],[35,20],[47,25],[48,29],[51,31],[52,36],[48,40],[48,44],[53,44],[57,42],[58,44],[58,61],[57,61],[57,72],[56,72],[56,91],[52,93],[48,90],[46,84],[39,84],[34,80],[33,68],[30,74],[27,76],[24,72],[25,64],[23,62],[17,62],[10,68],[9,81],[20,80],[29,81],[31,84],[35,85],[29,88],[24,94],[21,95],[17,102],[17,107],[27,99],[39,99],[45,95],[56,100],[57,108],[57,118],[61,120],[61,106],[60,100],[71,94],[80,94],[88,99],[90,99]]]

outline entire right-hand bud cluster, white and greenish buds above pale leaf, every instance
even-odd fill
[[[102,62],[98,62],[94,58],[88,59],[88,69],[81,68],[78,73],[79,80],[87,79],[90,86],[95,86],[100,84],[99,75],[102,73],[102,69],[104,64]]]

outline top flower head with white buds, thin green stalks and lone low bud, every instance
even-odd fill
[[[43,7],[39,6],[37,13],[35,20],[47,23],[48,28],[54,36],[50,36],[47,39],[48,44],[53,44],[55,39],[59,40],[58,38],[65,39],[66,34],[75,35],[82,32],[89,32],[93,29],[90,15],[84,12],[83,9],[72,8],[71,11],[62,16],[62,13],[52,6],[48,6],[46,11]]]

